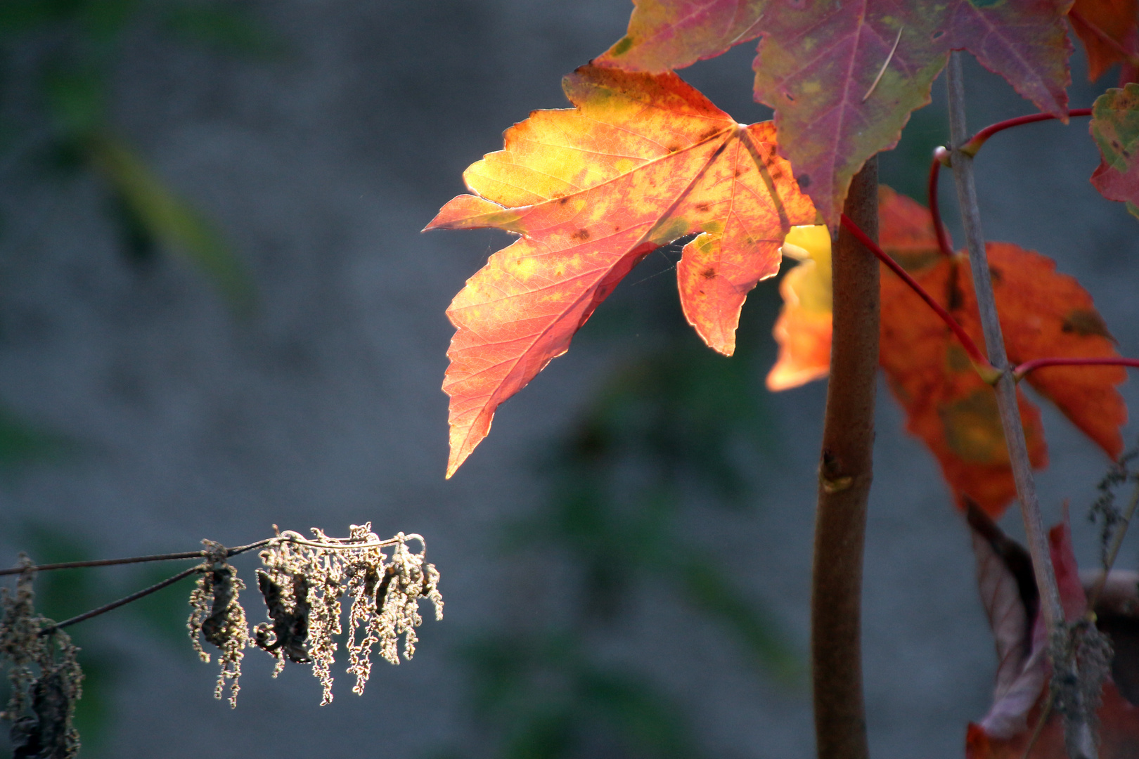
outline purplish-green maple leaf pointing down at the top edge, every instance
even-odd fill
[[[776,109],[781,154],[836,223],[851,178],[929,102],[950,50],[969,50],[1041,110],[1066,118],[1068,5],[636,0],[628,33],[597,63],[662,72],[761,36],[755,99]]]

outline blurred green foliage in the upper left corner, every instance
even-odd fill
[[[173,191],[112,123],[115,66],[133,35],[167,35],[265,58],[280,46],[245,3],[177,0],[0,2],[0,157],[38,162],[36,173],[91,172],[110,196],[123,250],[169,251],[213,281],[230,306],[254,304],[249,274],[224,238]],[[5,155],[7,154],[7,155]],[[9,170],[10,171],[10,170]],[[2,175],[0,175],[2,180]]]

